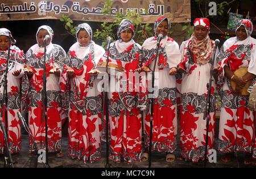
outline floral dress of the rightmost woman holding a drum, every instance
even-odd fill
[[[232,37],[225,41],[218,58],[220,59],[220,75],[218,87],[222,87],[222,106],[218,135],[218,151],[220,152],[253,152],[255,145],[255,116],[248,108],[249,96],[237,95],[230,87],[230,80],[225,77],[224,66],[233,72],[247,67],[248,72],[256,75],[256,40],[247,37],[238,41]],[[251,91],[256,79],[251,81],[247,91]],[[255,150],[254,150],[255,151]]]

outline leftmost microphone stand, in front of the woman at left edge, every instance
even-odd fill
[[[0,117],[0,125],[1,129],[3,131],[3,137],[5,139],[5,166],[7,168],[14,168],[13,166],[13,159],[11,157],[11,152],[9,148],[9,142],[7,138],[7,110],[8,110],[8,96],[7,96],[7,73],[8,73],[8,66],[9,66],[9,58],[10,58],[10,46],[11,46],[11,39],[9,35],[9,46],[8,46],[8,53],[7,53],[7,59],[6,59],[6,69],[5,69],[5,75],[4,75],[4,82],[3,82],[3,98],[2,98],[2,103],[1,103],[1,117]],[[5,113],[5,123],[3,122],[3,113]]]

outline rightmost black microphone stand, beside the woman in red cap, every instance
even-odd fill
[[[213,59],[212,63],[210,64],[210,78],[209,78],[209,83],[207,83],[207,100],[206,100],[206,105],[205,105],[205,110],[204,110],[204,120],[207,120],[207,133],[206,133],[206,138],[205,138],[205,153],[204,153],[204,167],[206,167],[207,164],[207,151],[208,151],[208,136],[209,136],[209,120],[210,120],[210,94],[212,92],[212,82],[213,82],[213,65],[215,61],[215,55],[216,55],[216,49],[217,49],[217,42],[215,42],[215,46],[213,49]],[[215,110],[215,109],[214,109]]]

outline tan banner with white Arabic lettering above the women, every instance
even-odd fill
[[[141,13],[143,23],[154,23],[159,16],[166,16],[172,23],[191,22],[190,0],[113,0],[111,14],[103,15],[102,0],[1,0],[0,20],[60,19],[67,15],[73,20],[111,22],[117,12]]]

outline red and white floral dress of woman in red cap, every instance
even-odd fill
[[[216,60],[213,61],[211,56],[207,63],[197,62],[195,55],[190,53],[190,45],[191,39],[184,41],[180,47],[183,54],[180,66],[186,71],[181,82],[180,143],[181,155],[184,159],[197,162],[204,159],[205,154],[207,120],[204,120],[204,112],[205,106],[207,106],[207,83],[209,83],[211,64],[216,66]],[[209,46],[210,51],[213,52],[214,41],[210,40]],[[218,50],[216,50],[217,53]],[[209,113],[208,149],[214,147],[214,92],[215,84],[213,81],[210,94],[212,105]]]

